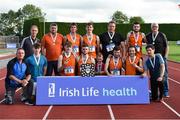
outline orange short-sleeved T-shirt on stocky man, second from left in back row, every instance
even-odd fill
[[[62,52],[63,35],[57,33],[55,42],[53,42],[50,33],[45,34],[41,40],[42,46],[46,49],[46,58],[48,61],[56,61]]]

